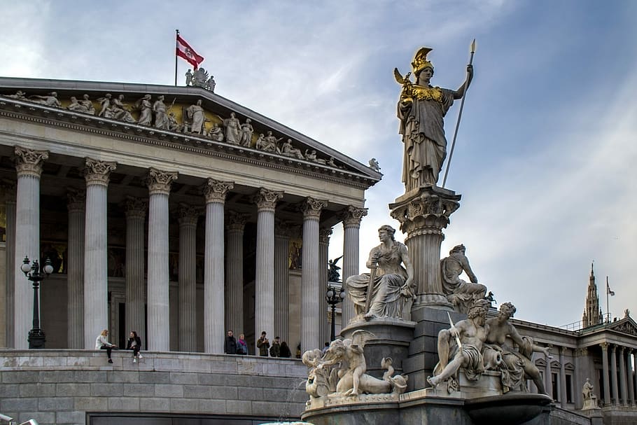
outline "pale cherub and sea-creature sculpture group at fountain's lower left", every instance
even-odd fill
[[[391,358],[383,358],[381,361],[381,367],[386,369],[383,379],[365,373],[365,343],[373,337],[373,333],[359,329],[353,332],[351,339],[332,341],[322,358],[318,357],[318,350],[306,352],[303,362],[306,365],[315,365],[309,372],[306,391],[314,397],[323,393],[347,397],[360,394],[404,393],[407,389],[407,377],[393,375]],[[310,354],[307,355],[308,353]],[[333,388],[336,380],[336,386]]]

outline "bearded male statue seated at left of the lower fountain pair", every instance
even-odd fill
[[[449,329],[438,333],[438,363],[433,369],[433,376],[427,382],[434,388],[440,382],[449,381],[447,391],[458,389],[455,377],[460,368],[464,368],[465,376],[470,381],[477,381],[484,372],[482,346],[489,333],[486,324],[486,313],[491,303],[488,300],[476,300],[467,312],[467,319],[458,321]]]

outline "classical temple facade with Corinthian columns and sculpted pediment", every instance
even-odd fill
[[[156,351],[221,354],[228,329],[251,353],[262,330],[323,347],[329,235],[358,246],[380,178],[202,88],[1,78],[0,344],[27,348],[27,256],[54,267],[47,348],[92,349],[106,328]]]

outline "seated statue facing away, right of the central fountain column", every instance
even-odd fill
[[[449,251],[447,258],[440,260],[442,292],[461,313],[466,313],[474,300],[486,295],[486,286],[477,283],[465,251],[464,245],[456,245]],[[470,281],[460,279],[462,272],[467,274]]]

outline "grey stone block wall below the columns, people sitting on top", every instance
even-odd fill
[[[109,364],[105,351],[0,350],[0,412],[39,424],[88,425],[87,414],[195,415],[217,418],[197,423],[228,417],[233,424],[252,424],[297,419],[307,400],[307,368],[296,359],[143,355],[132,363],[131,351],[113,351]],[[92,422],[117,423],[113,419]]]

